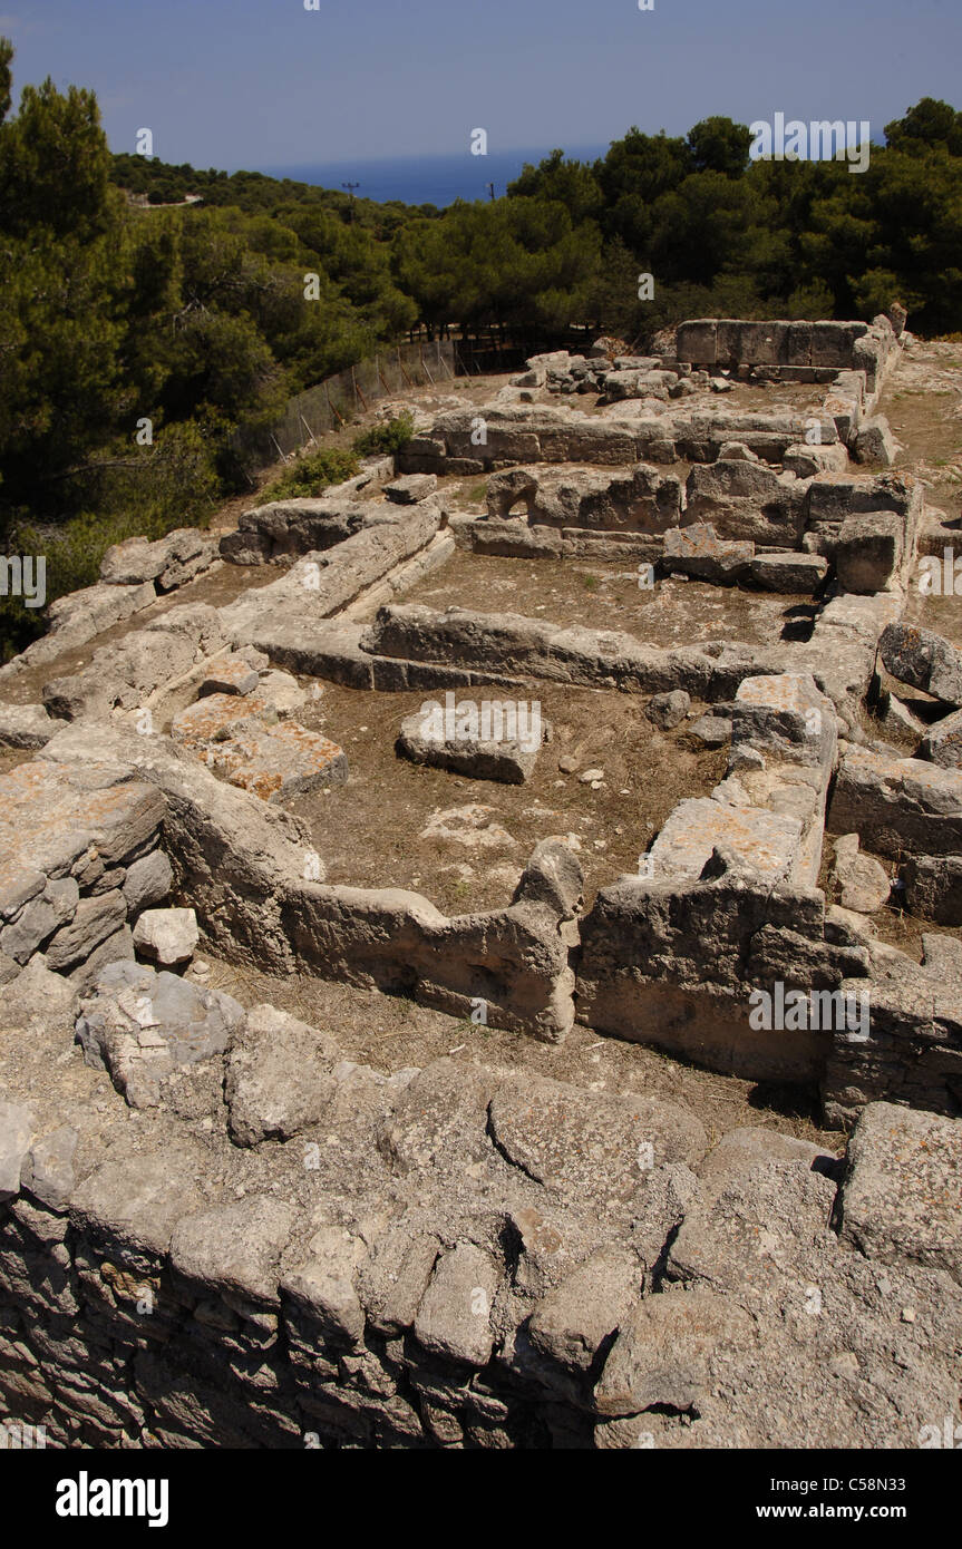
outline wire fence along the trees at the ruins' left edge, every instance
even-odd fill
[[[459,370],[466,373],[452,339],[386,347],[297,393],[268,429],[242,434],[237,449],[249,466],[287,462],[330,431],[344,429],[375,403],[411,387],[454,381]]]

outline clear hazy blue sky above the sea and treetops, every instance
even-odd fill
[[[960,0],[0,0],[17,81],[197,167],[589,146],[632,124],[962,107]]]

